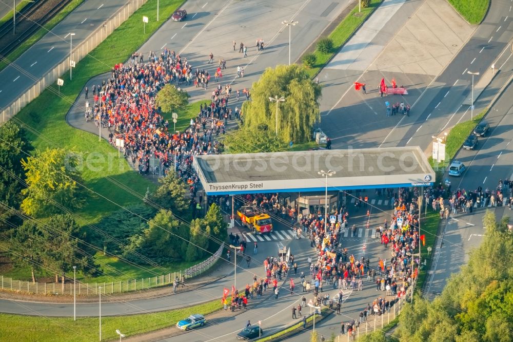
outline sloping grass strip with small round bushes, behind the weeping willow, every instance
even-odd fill
[[[315,64],[308,70],[311,77],[319,73],[319,71],[325,66],[325,64],[337,53],[340,48],[349,40],[356,30],[362,25],[367,17],[378,8],[383,0],[370,0],[369,6],[362,8],[362,11],[358,12],[358,5],[355,6],[351,12],[342,20],[342,22],[328,35],[328,38],[333,41],[333,48],[329,53],[322,53],[319,50],[315,50]]]

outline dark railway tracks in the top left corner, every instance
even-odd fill
[[[70,1],[35,0],[34,3],[25,6],[16,14],[16,34],[13,34],[12,21],[0,27],[0,55],[7,56]]]

